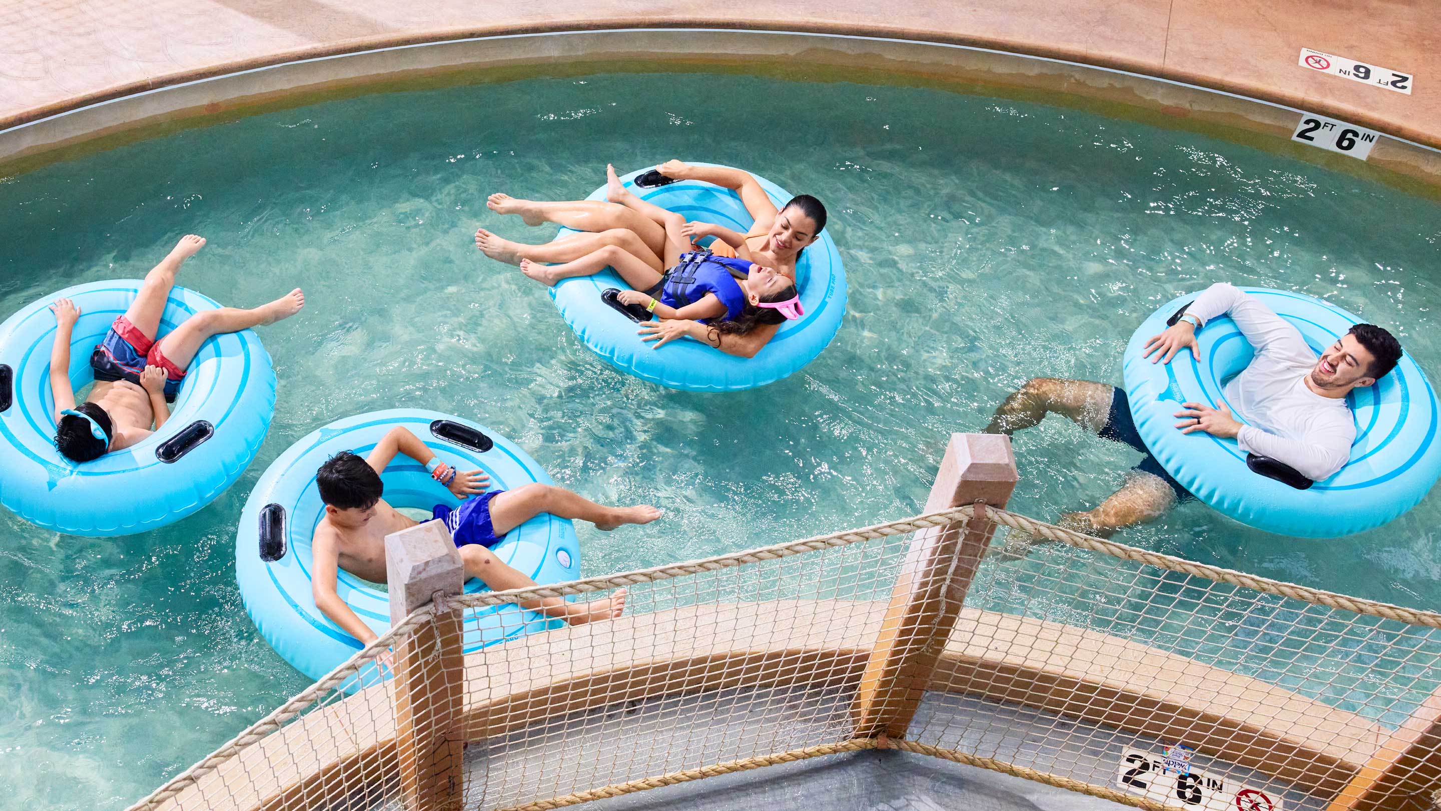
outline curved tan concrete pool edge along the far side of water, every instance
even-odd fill
[[[46,117],[0,130],[0,175],[27,172],[173,128],[229,121],[337,95],[608,69],[710,69],[800,81],[869,78],[879,84],[919,84],[1081,108],[1197,131],[1402,186],[1412,193],[1441,196],[1441,150],[1425,143],[1382,137],[1370,160],[1360,162],[1291,141],[1303,108],[1290,104],[1294,100],[1284,94],[1271,100],[1249,98],[1229,89],[1186,84],[1186,76],[1154,76],[1136,72],[1134,66],[1082,63],[1059,52],[993,48],[1014,43],[938,42],[934,35],[893,39],[716,27],[510,32],[464,39],[455,39],[454,33],[317,46],[147,79],[146,87],[131,84],[115,88],[114,94],[107,91],[108,98],[76,97],[58,102],[52,107],[65,108],[45,110]],[[794,75],[797,69],[803,74]],[[1319,102],[1306,111],[1349,114]],[[1352,120],[1362,123],[1356,115]]]

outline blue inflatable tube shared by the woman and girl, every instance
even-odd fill
[[[634,179],[643,172],[631,172],[621,180],[644,201],[680,212],[686,219],[725,225],[742,234],[755,224],[741,196],[731,189],[699,180],[641,189]],[[791,195],[784,189],[764,177],[755,179],[777,206],[790,202]],[[604,201],[605,188],[586,199]],[[575,231],[562,228],[556,238],[571,234]],[[806,315],[781,325],[775,338],[754,358],[726,355],[690,339],[660,349],[641,342],[635,323],[601,302],[601,291],[607,287],[628,287],[610,268],[595,276],[566,279],[550,287],[550,297],[581,341],[625,374],[686,391],[739,391],[775,382],[814,361],[840,329],[840,319],[846,315],[846,270],[829,232],[821,232],[821,238],[801,253],[795,263],[795,283]]]

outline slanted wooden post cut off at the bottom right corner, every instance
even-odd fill
[[[1370,756],[1326,811],[1422,811],[1441,788],[1441,688]]]

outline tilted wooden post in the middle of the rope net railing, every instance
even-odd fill
[[[1009,436],[951,434],[925,511],[976,502],[1006,507],[1017,479]],[[911,537],[852,704],[855,737],[905,737],[994,531],[977,515]]]

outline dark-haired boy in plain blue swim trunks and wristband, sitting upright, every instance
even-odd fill
[[[623,524],[650,524],[661,514],[650,505],[604,507],[553,485],[530,483],[513,491],[487,491],[490,478],[480,470],[451,469],[414,433],[403,427],[391,429],[365,459],[342,452],[316,473],[316,488],[326,504],[326,517],[316,525],[311,541],[311,595],[316,608],[365,644],[376,635],[336,593],[336,576],[337,570],[344,569],[356,577],[385,583],[385,537],[419,524],[380,498],[385,492],[380,472],[398,453],[425,465],[437,486],[444,486],[461,499],[454,509],[437,505],[431,514],[444,520],[450,528],[465,564],[465,576],[478,577],[494,592],[536,584],[506,566],[490,547],[506,532],[542,512],[589,521],[604,531]],[[605,600],[571,603],[548,597],[523,602],[520,606],[581,625],[620,616],[625,609],[625,589]]]

